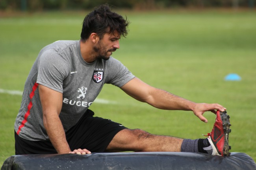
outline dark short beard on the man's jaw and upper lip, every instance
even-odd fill
[[[96,58],[97,59],[103,59],[103,60],[108,60],[110,58],[110,55],[112,54],[113,51],[116,50],[116,48],[111,48],[107,49],[102,45],[102,43],[99,41],[96,46],[93,47],[93,50],[96,53]],[[108,52],[111,52],[110,55],[108,55]]]

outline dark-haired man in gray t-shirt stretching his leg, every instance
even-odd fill
[[[84,21],[81,39],[43,48],[25,83],[15,121],[16,154],[91,152],[204,152],[228,155],[229,117],[219,104],[195,103],[149,86],[111,57],[127,35],[127,20],[100,5]],[[188,110],[204,122],[217,114],[207,139],[179,139],[130,130],[89,110],[102,86],[113,84],[141,102],[165,110]],[[216,111],[217,110],[217,111]]]

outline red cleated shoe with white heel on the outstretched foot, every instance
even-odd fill
[[[211,133],[208,133],[208,140],[212,147],[212,155],[230,156],[228,146],[228,134],[231,132],[229,115],[227,112],[220,112],[217,110],[216,121],[213,125]]]

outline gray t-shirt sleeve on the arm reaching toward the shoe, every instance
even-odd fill
[[[107,83],[120,88],[135,77],[119,60],[111,57],[108,62]]]

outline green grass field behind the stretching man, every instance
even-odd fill
[[[255,11],[120,11],[130,32],[113,57],[152,86],[195,102],[219,103],[232,124],[231,152],[256,160],[256,12]],[[78,40],[86,12],[0,16],[0,89],[22,91],[40,49],[56,40]],[[225,81],[237,73],[241,81]],[[128,128],[182,138],[203,138],[208,123],[192,112],[158,110],[106,85],[94,103],[97,116]],[[14,121],[21,95],[0,93],[0,165],[15,154]]]

